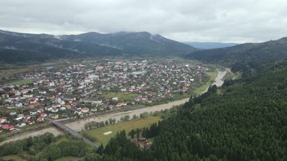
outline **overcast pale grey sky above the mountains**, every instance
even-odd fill
[[[264,42],[287,36],[287,0],[1,0],[0,30],[146,31],[176,41]]]

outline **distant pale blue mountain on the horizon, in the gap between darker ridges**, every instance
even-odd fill
[[[225,48],[239,45],[236,43],[217,43],[217,42],[182,42],[195,48]]]

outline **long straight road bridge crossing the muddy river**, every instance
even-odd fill
[[[57,121],[57,120],[53,120],[53,119],[50,119],[50,118],[45,118],[45,120],[48,120],[50,122],[52,122],[56,127],[80,138],[80,139],[83,139],[86,143],[94,146],[94,147],[99,147],[99,145],[95,144],[94,142],[90,141],[89,139],[85,138],[84,136],[80,135],[77,131],[74,131],[73,129],[67,127],[66,125],[62,124],[61,122]]]

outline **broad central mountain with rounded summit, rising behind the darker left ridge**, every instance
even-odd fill
[[[60,35],[58,38],[69,41],[90,42],[101,46],[122,49],[135,55],[175,55],[194,48],[149,32],[88,32],[78,35]]]

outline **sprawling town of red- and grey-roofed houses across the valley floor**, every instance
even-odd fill
[[[160,60],[117,60],[47,66],[15,76],[31,80],[2,85],[0,132],[18,131],[52,119],[151,106],[189,97],[209,81],[209,69],[195,63]]]

